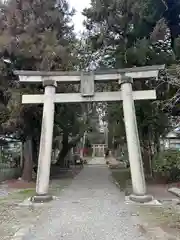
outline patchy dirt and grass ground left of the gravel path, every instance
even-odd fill
[[[59,196],[60,192],[71,184],[80,169],[60,173],[50,181],[49,193]],[[0,185],[0,240],[11,240],[12,236],[37,221],[48,204],[40,207],[20,206],[25,199],[35,194],[35,182],[22,180],[5,181]]]

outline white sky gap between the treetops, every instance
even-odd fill
[[[69,0],[70,6],[76,9],[76,15],[73,17],[75,32],[79,33],[83,29],[83,20],[81,12],[88,7],[90,0]]]

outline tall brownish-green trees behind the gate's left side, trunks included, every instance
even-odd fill
[[[21,105],[20,96],[42,93],[43,88],[38,84],[19,84],[12,70],[73,70],[77,65],[77,40],[72,15],[73,10],[66,0],[10,0],[1,4],[2,133],[12,134],[24,143],[24,180],[31,180],[33,161],[37,162],[42,106]],[[4,59],[11,63],[5,64]],[[57,88],[57,92],[65,91],[77,91],[77,86],[60,85]],[[81,113],[82,106],[77,104],[56,107],[54,139],[63,136],[62,161],[71,146],[68,145],[69,136],[77,137],[79,133],[83,122]]]

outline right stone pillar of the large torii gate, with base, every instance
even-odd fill
[[[146,195],[146,183],[142,156],[135,115],[134,99],[132,95],[132,78],[123,76],[120,80],[124,122],[126,128],[126,137],[128,144],[128,154],[131,169],[131,179],[133,194],[129,196],[130,200],[137,202],[149,202],[153,199],[151,195]]]

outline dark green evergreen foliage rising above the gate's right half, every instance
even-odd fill
[[[100,65],[120,68],[170,64],[174,56],[169,49],[165,11],[161,0],[92,1],[84,15],[89,44],[102,54]]]

